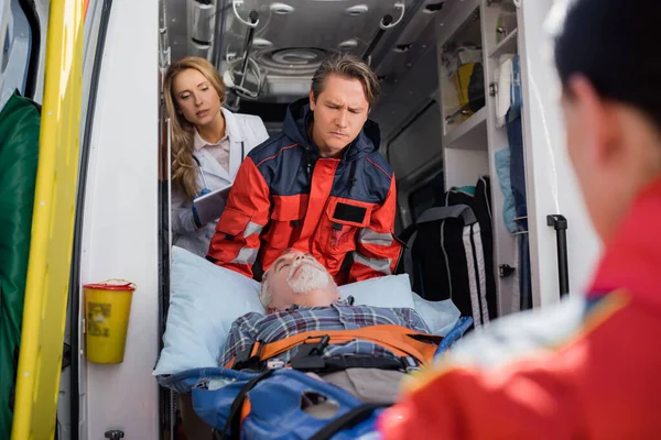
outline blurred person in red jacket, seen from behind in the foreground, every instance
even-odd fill
[[[658,0],[570,3],[555,40],[567,151],[605,244],[587,295],[502,319],[412,378],[399,439],[652,439],[661,432]]]

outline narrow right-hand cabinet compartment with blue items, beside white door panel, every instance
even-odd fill
[[[510,188],[516,187],[517,175],[522,190],[525,188],[523,152],[518,148],[519,166],[517,167],[517,148],[514,143],[522,142],[521,116],[512,116],[516,98],[512,90],[520,90],[520,73],[514,78],[513,63],[518,53],[517,8],[512,0],[499,2],[485,0],[483,8],[483,32],[485,35],[485,87],[488,90],[487,102],[487,138],[489,174],[491,176],[491,202],[494,209],[494,258],[498,271],[497,288],[499,292],[500,314],[509,314],[532,307],[531,261],[529,258],[528,209],[525,193],[523,200],[514,200],[513,189],[506,201],[503,186],[509,177]],[[506,68],[506,65],[509,68]],[[506,79],[508,72],[512,82]],[[520,96],[520,95],[519,95]],[[509,110],[505,110],[509,107]],[[520,110],[518,110],[520,112]],[[516,119],[518,118],[518,119]],[[513,119],[513,121],[508,121]],[[509,130],[509,133],[508,133]],[[503,158],[505,157],[505,158]],[[509,158],[509,160],[508,160]],[[507,166],[509,164],[509,166]],[[499,169],[500,167],[500,169]],[[502,169],[505,168],[505,169]],[[521,182],[522,179],[522,182]],[[518,201],[518,202],[517,202]],[[521,206],[523,205],[523,206]],[[505,210],[509,209],[509,216]],[[512,212],[513,211],[513,212]],[[514,271],[508,275],[508,267]]]

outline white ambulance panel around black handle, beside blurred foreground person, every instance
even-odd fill
[[[548,215],[568,221],[567,252],[570,292],[581,293],[594,270],[599,243],[587,217],[578,185],[565,151],[559,106],[559,81],[550,48],[548,13],[552,2],[522,1],[519,11],[521,74],[523,86],[523,140],[528,188],[530,255],[534,307],[557,301],[556,235]]]

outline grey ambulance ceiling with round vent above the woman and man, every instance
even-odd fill
[[[408,52],[426,24],[444,12],[443,1],[437,0],[243,0],[238,3],[225,0],[218,9],[221,18],[216,20],[213,0],[163,1],[172,59],[199,55],[215,61],[220,70],[227,68],[228,59],[242,56],[249,29],[246,22],[256,11],[259,22],[250,56],[263,70],[264,82],[275,86],[262,90],[259,100],[264,101],[282,101],[277,98],[291,99],[293,95],[300,95],[304,87],[293,84],[292,78],[308,81],[319,62],[330,53],[343,51],[362,55],[383,16],[391,15],[392,23],[400,19],[402,10],[395,3],[403,3],[404,14],[398,25],[383,33],[372,52],[372,67],[377,72],[393,50],[399,51],[394,52],[398,55]],[[215,30],[217,22],[218,32]],[[221,34],[217,40],[220,53],[213,46],[218,34]],[[397,48],[398,44],[402,46]],[[405,68],[405,57],[398,59]]]

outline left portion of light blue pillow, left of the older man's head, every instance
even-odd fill
[[[259,283],[219,267],[182,248],[172,248],[170,309],[154,375],[218,366],[235,319],[264,312]]]

